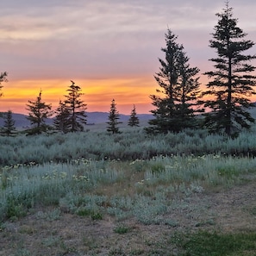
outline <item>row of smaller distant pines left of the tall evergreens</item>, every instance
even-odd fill
[[[47,104],[42,101],[41,91],[39,96],[35,101],[28,101],[28,120],[33,126],[33,128],[28,129],[28,134],[41,134],[42,132],[47,132],[47,130],[52,129],[51,126],[47,125],[47,118],[53,115],[53,128],[54,130],[60,131],[62,133],[83,131],[84,125],[86,124],[86,112],[87,105],[81,99],[83,93],[81,88],[76,85],[73,81],[67,90],[67,95],[64,101],[59,101],[59,107],[53,111],[51,104]],[[118,122],[120,118],[119,112],[116,109],[115,99],[112,100],[109,111],[109,122],[107,131],[116,134],[120,133]],[[15,122],[12,118],[12,112],[9,110],[5,116],[3,116],[4,125],[3,133],[10,135],[15,132]],[[132,109],[131,116],[128,120],[128,125],[131,127],[139,126],[139,118],[136,114],[136,109]]]

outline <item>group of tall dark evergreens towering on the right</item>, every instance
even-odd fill
[[[250,61],[256,56],[243,54],[254,43],[244,39],[247,34],[237,26],[228,2],[216,16],[218,22],[209,47],[216,50],[217,57],[209,59],[215,71],[204,73],[212,79],[206,84],[207,91],[199,90],[199,69],[190,67],[177,36],[170,29],[165,34],[166,47],[161,49],[165,59],[159,59],[161,66],[155,74],[160,89],[157,95],[150,96],[155,118],[149,121],[147,132],[179,132],[202,125],[210,132],[235,136],[241,128],[250,128],[254,122],[247,109],[255,106],[248,97],[255,94],[256,77],[251,74],[255,66]],[[198,113],[203,113],[200,116],[204,118],[198,118]]]

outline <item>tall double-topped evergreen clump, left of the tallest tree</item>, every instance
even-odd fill
[[[177,36],[170,29],[165,34],[166,47],[161,48],[165,53],[165,60],[159,59],[160,68],[154,78],[160,86],[158,95],[151,95],[155,109],[151,110],[153,120],[147,132],[166,133],[168,131],[179,132],[183,128],[193,128],[199,97],[197,67],[191,68],[189,58],[184,53],[183,45],[179,45]]]

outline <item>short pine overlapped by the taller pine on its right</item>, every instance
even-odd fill
[[[66,104],[61,100],[59,101],[59,107],[55,111],[55,118],[53,120],[53,126],[56,130],[66,134],[68,132],[68,120],[70,116],[69,110],[66,108]]]

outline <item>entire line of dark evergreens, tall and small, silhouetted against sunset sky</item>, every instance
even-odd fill
[[[228,1],[222,13],[216,16],[218,21],[209,47],[215,49],[217,56],[209,59],[214,70],[204,73],[209,78],[206,91],[200,89],[199,69],[190,66],[190,58],[184,46],[178,43],[178,36],[167,29],[165,47],[161,48],[165,59],[159,59],[159,72],[154,75],[159,89],[156,94],[149,96],[154,109],[151,110],[153,119],[149,120],[149,126],[145,128],[148,134],[207,128],[210,133],[234,137],[242,128],[250,128],[255,122],[248,109],[255,106],[249,97],[256,94],[253,90],[256,77],[252,74],[255,66],[251,64],[256,55],[245,53],[253,47],[254,42],[246,40],[247,34],[238,27],[238,20],[233,17],[233,9],[229,7]],[[0,82],[6,81],[6,76],[7,73],[3,72]],[[80,98],[81,88],[72,81],[67,91],[66,100],[59,101],[54,119],[54,127],[63,133],[83,130],[86,123],[86,104]],[[28,101],[27,107],[28,120],[35,126],[32,132],[41,132],[47,128],[44,120],[52,116],[53,112],[49,104],[41,102],[41,92],[35,102]],[[115,99],[110,105],[107,123],[108,132],[120,132]],[[139,125],[135,106],[128,125]]]

